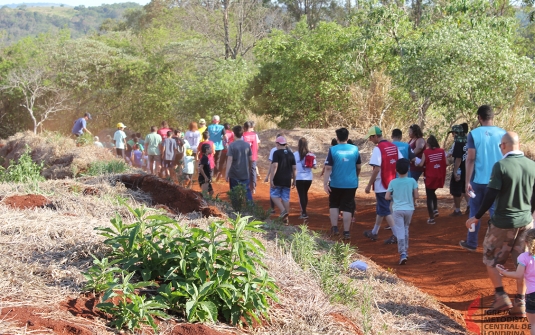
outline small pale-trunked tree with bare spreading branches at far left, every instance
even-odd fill
[[[13,69],[1,89],[21,96],[19,105],[30,115],[34,134],[50,116],[68,109],[67,91],[55,86],[53,78],[43,69]]]

